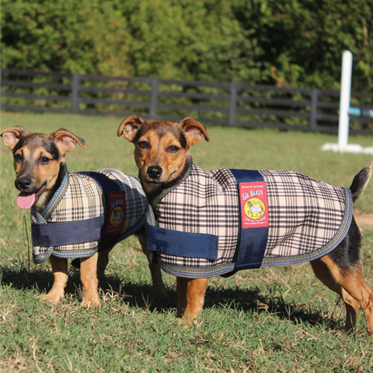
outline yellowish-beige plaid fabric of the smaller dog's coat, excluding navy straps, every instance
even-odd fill
[[[98,171],[107,178],[114,180],[122,191],[125,191],[126,216],[122,227],[122,235],[131,230],[143,217],[147,209],[147,199],[140,181],[131,175],[115,169]],[[61,199],[54,204],[54,196],[49,205],[53,205],[44,216],[47,223],[71,222],[102,216],[105,211],[103,191],[101,186],[87,175],[68,172],[65,190],[61,191]],[[48,207],[47,207],[48,209]],[[46,210],[47,210],[46,209]],[[31,211],[33,223],[43,223],[35,211]],[[68,235],[69,232],[66,232]],[[120,238],[119,238],[120,241]],[[79,244],[61,245],[55,247],[33,246],[33,260],[41,263],[51,254],[56,257],[81,258],[92,256],[98,248],[98,241]]]

